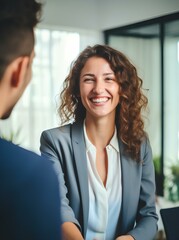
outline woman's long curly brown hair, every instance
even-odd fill
[[[140,145],[146,136],[141,111],[147,106],[147,97],[142,93],[142,79],[127,57],[107,45],[88,46],[72,64],[60,94],[58,109],[62,124],[74,119],[84,120],[86,110],[79,98],[80,73],[91,57],[104,58],[113,70],[120,86],[120,100],[116,111],[118,136],[125,145],[125,152],[132,159],[140,160]]]

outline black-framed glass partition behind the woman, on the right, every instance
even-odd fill
[[[104,31],[106,44],[127,55],[143,79],[157,195],[172,201],[179,200],[178,26],[179,12]]]

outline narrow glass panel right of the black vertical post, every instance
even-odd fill
[[[165,195],[179,200],[179,20],[164,25]]]

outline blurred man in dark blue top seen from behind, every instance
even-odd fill
[[[0,119],[31,79],[40,15],[36,0],[0,0]],[[59,201],[52,163],[0,138],[0,239],[59,240]]]

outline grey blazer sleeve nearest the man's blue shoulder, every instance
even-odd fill
[[[55,132],[55,134],[54,134]],[[40,151],[42,156],[47,157],[49,160],[53,162],[54,170],[57,174],[59,190],[60,190],[60,203],[61,204],[61,219],[62,223],[64,222],[73,222],[80,229],[80,224],[78,220],[75,218],[73,209],[69,205],[69,199],[67,198],[68,189],[66,187],[65,179],[64,179],[64,171],[63,171],[63,156],[62,152],[64,152],[64,147],[60,144],[60,139],[57,136],[60,134],[59,128],[53,130],[43,131],[40,138]],[[61,139],[63,141],[63,139]]]

